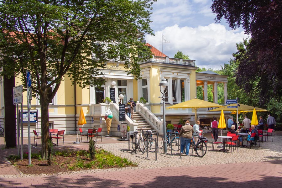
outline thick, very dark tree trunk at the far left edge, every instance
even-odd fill
[[[16,107],[13,104],[13,87],[15,77],[4,79],[4,106],[5,106],[5,143],[6,148],[17,146],[17,126],[16,126]]]

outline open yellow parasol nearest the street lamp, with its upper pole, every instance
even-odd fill
[[[198,108],[207,108],[207,107],[223,107],[222,105],[216,104],[216,103],[212,103],[212,102],[208,102],[208,101],[203,101],[201,99],[191,99],[189,101],[185,101],[185,102],[181,102],[175,105],[172,105],[170,107],[167,108],[193,108],[195,109],[195,120],[197,119],[197,109]]]

